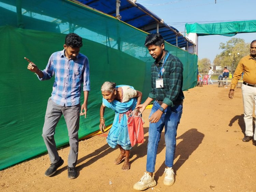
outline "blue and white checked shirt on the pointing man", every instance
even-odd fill
[[[76,59],[68,60],[64,50],[51,55],[42,71],[44,76],[39,80],[48,80],[55,75],[51,99],[61,106],[75,106],[80,103],[82,83],[83,91],[90,91],[89,61],[81,53]]]

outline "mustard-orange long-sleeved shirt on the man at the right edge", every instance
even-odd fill
[[[255,85],[256,61],[251,57],[251,55],[247,55],[239,61],[231,81],[230,89],[234,89],[236,87],[238,81],[241,79],[243,72],[243,81]]]

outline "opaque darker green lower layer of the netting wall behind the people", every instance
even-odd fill
[[[37,76],[27,69],[28,63],[24,57],[44,69],[50,55],[63,49],[66,34],[12,27],[0,27],[0,33],[4,47],[0,69],[2,169],[46,151],[41,134],[54,79],[39,81]],[[150,76],[145,78],[145,72],[148,71],[146,67],[150,66],[145,62],[120,50],[86,39],[83,39],[83,44],[80,52],[86,54],[89,59],[91,91],[87,118],[80,119],[80,138],[99,129],[99,108],[102,102],[100,86],[104,81],[132,85],[145,93],[144,99],[150,88]],[[113,111],[106,110],[106,124],[112,123],[113,115]],[[58,123],[55,140],[58,146],[69,141],[64,118]]]

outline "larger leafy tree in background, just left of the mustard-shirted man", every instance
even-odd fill
[[[239,60],[250,53],[250,43],[245,43],[242,38],[231,38],[226,44],[220,43],[219,49],[223,51],[216,55],[213,61],[214,65],[228,67],[233,74]]]

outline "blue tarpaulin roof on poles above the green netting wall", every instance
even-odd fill
[[[116,0],[77,0],[93,9],[116,17]],[[193,46],[194,43],[184,37],[177,29],[168,26],[160,17],[146,9],[143,5],[129,0],[122,0],[119,7],[119,15],[122,21],[148,33],[158,32],[166,42],[183,48]]]

